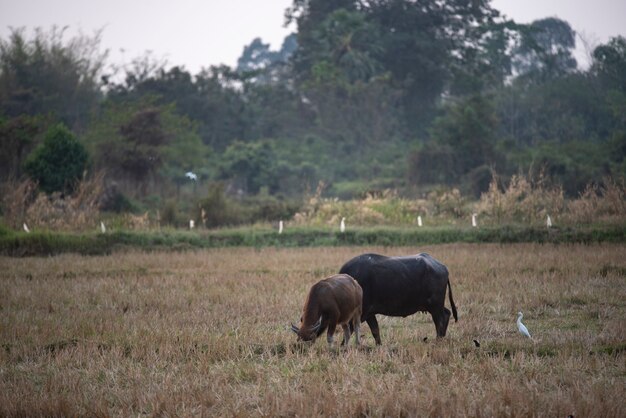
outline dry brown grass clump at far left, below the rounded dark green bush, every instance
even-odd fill
[[[59,192],[46,195],[37,193],[31,180],[8,187],[3,204],[5,221],[14,228],[23,222],[31,228],[52,230],[84,230],[97,225],[99,199],[103,189],[102,174],[84,178],[74,194],[63,196]]]

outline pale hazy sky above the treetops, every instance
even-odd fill
[[[209,65],[235,66],[244,45],[255,37],[280,48],[294,28],[284,27],[292,0],[0,0],[0,37],[9,27],[49,29],[69,26],[92,35],[104,29],[102,48],[109,61],[129,62],[152,51],[192,74]],[[626,36],[626,0],[493,0],[492,5],[519,23],[559,17],[597,46],[611,36]],[[69,36],[68,36],[69,37]],[[576,56],[584,59],[580,46]],[[123,52],[122,52],[123,51]]]

